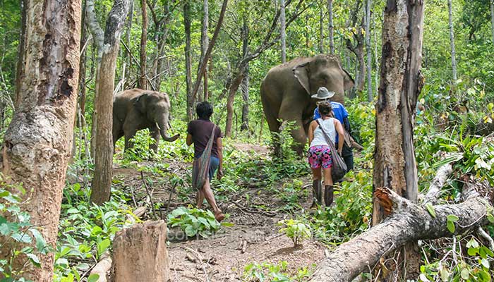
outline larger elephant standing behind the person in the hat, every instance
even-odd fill
[[[319,87],[335,92],[332,101],[344,104],[344,91],[354,86],[337,56],[318,54],[296,58],[275,66],[267,72],[260,85],[260,97],[267,125],[272,133],[279,133],[282,121],[294,121],[291,136],[295,151],[302,153],[306,144],[308,125],[313,118],[316,100],[311,99]],[[275,155],[279,156],[279,141],[273,134]]]

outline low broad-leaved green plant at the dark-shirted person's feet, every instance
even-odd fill
[[[168,215],[168,223],[171,227],[179,226],[188,238],[196,235],[207,238],[229,223],[218,223],[215,215],[210,210],[197,208],[178,207]]]

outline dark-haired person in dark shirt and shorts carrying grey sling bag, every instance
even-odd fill
[[[223,176],[222,131],[210,121],[212,105],[209,102],[198,103],[195,112],[199,118],[188,123],[186,143],[188,146],[194,144],[192,182],[193,187],[198,190],[197,207],[202,208],[206,199],[215,219],[222,221],[224,214],[216,203],[210,184],[216,171],[218,180]]]

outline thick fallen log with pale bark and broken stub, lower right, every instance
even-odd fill
[[[476,231],[487,223],[486,215],[492,206],[481,197],[472,197],[461,204],[433,206],[432,216],[425,207],[400,197],[388,188],[378,188],[375,197],[390,212],[382,223],[356,238],[340,245],[315,270],[311,282],[351,281],[372,268],[387,252],[416,240],[451,236],[447,216],[459,218],[454,223],[454,234]]]

